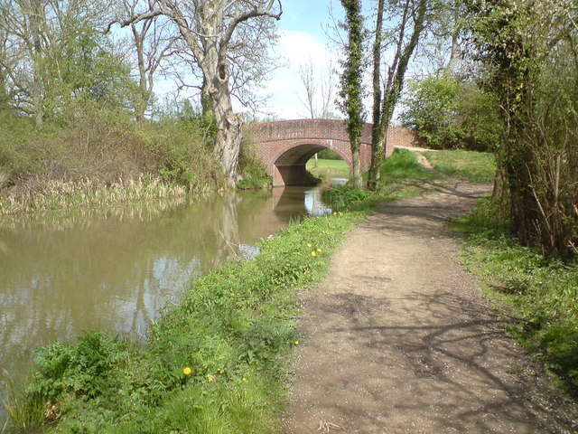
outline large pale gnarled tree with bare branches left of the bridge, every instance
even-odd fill
[[[279,20],[282,13],[280,0],[155,0],[142,14],[119,20],[126,26],[163,15],[177,27],[202,73],[203,109],[210,110],[215,119],[215,153],[229,184],[237,182],[242,123],[231,102],[230,45],[238,29],[243,32],[250,27],[253,32],[247,34],[258,35],[264,19]]]

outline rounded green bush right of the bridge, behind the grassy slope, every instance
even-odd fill
[[[409,83],[402,121],[433,149],[491,151],[501,133],[498,103],[471,83],[429,76]]]

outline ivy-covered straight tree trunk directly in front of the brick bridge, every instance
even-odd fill
[[[361,188],[359,145],[363,129],[362,73],[363,73],[363,17],[360,0],[341,0],[345,9],[343,29],[348,33],[345,47],[346,61],[341,74],[340,109],[347,115],[345,123],[350,136],[353,187]]]

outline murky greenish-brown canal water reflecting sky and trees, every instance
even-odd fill
[[[0,382],[23,377],[34,348],[84,330],[144,336],[189,279],[328,212],[318,190],[279,187],[0,219]]]

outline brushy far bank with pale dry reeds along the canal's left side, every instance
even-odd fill
[[[195,118],[135,122],[93,109],[42,131],[0,118],[0,215],[99,206],[219,185],[210,126]]]

